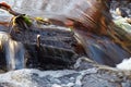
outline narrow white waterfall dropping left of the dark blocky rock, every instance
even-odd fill
[[[7,33],[0,32],[0,46],[5,52],[8,70],[24,67],[24,47],[21,42],[12,40]]]

